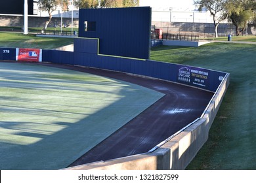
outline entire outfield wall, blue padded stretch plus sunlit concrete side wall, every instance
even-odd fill
[[[229,74],[149,59],[99,54],[98,39],[75,39],[74,52],[42,50],[42,61],[81,65],[177,82],[215,92],[201,118],[145,154],[69,169],[185,169],[207,141],[209,129],[229,84]],[[15,48],[0,48],[0,60],[15,60]],[[16,52],[16,51],[15,51]]]

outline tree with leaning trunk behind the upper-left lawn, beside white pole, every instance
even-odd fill
[[[52,13],[54,12],[54,10],[56,10],[57,6],[61,4],[63,5],[62,10],[68,10],[68,0],[39,0],[38,1],[39,10],[47,11],[49,14],[49,20],[45,22],[45,25],[43,26],[43,29],[42,29],[42,33],[47,29],[47,26],[51,22],[51,19],[53,18]]]

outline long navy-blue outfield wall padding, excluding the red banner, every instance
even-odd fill
[[[95,44],[92,42],[91,44]],[[3,50],[9,50],[3,52]],[[15,60],[15,48],[0,48],[0,59]],[[59,50],[42,50],[43,61],[52,63],[81,65],[85,67],[95,67],[98,69],[108,69],[135,75],[149,76],[178,82],[189,86],[195,86],[215,92],[226,73],[152,60],[140,60],[131,58],[119,58],[112,56],[102,56],[85,52],[65,52]]]

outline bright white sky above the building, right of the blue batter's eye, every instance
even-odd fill
[[[152,10],[194,10],[194,0],[140,0],[140,7],[152,7]]]

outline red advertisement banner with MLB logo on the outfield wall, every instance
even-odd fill
[[[42,50],[33,48],[17,48],[17,61],[42,61]]]

